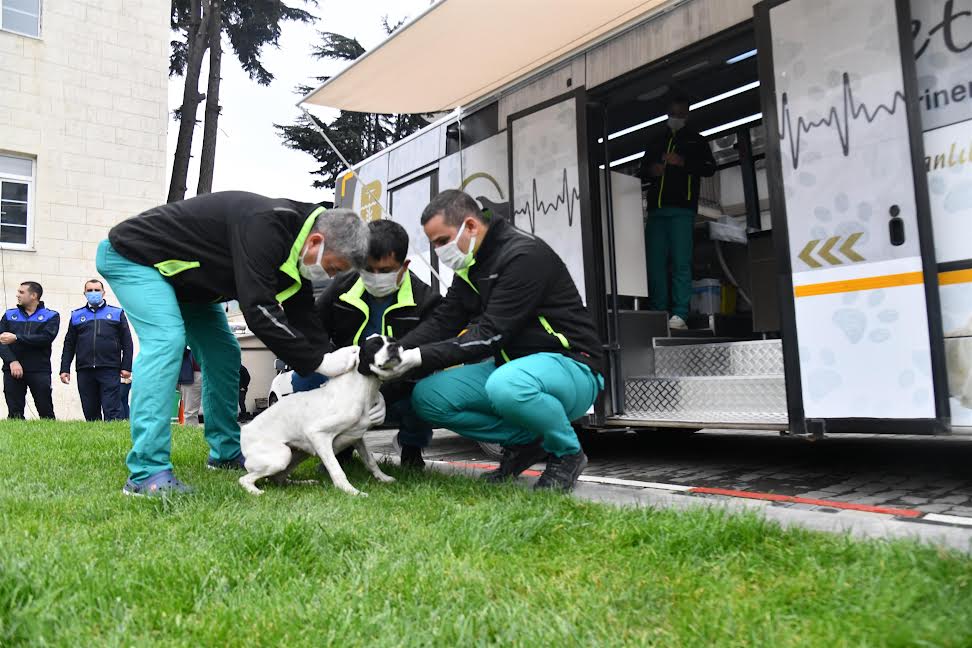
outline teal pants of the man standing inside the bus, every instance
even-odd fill
[[[648,212],[645,250],[648,253],[648,308],[688,317],[692,299],[692,231],[695,212],[661,207]],[[671,302],[668,292],[668,259],[672,260]]]

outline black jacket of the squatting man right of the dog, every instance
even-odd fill
[[[601,341],[567,266],[502,218],[490,224],[473,265],[401,343],[421,349],[423,369],[562,353],[602,372]]]

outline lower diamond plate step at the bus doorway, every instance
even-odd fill
[[[699,423],[783,423],[783,376],[629,378],[625,418]]]

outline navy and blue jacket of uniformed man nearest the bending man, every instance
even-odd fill
[[[64,336],[61,372],[71,372],[71,360],[83,369],[132,370],[132,332],[125,311],[101,302],[71,311],[71,322]]]

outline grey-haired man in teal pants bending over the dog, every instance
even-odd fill
[[[186,492],[172,474],[170,415],[188,343],[203,371],[211,468],[240,468],[240,346],[219,302],[238,300],[250,330],[302,373],[344,373],[357,347],[330,351],[312,282],[361,267],[368,229],[346,209],[227,191],[123,221],[98,246],[98,271],[138,335],[132,369],[128,495]]]

